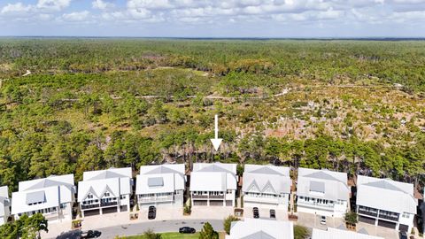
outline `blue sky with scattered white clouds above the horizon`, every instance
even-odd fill
[[[425,0],[0,0],[0,35],[425,37]]]

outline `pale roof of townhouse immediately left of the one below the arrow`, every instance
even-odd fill
[[[135,181],[135,194],[170,193],[184,190],[184,165],[141,166]]]

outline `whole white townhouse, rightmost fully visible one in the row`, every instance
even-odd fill
[[[418,201],[411,183],[359,176],[356,204],[360,221],[412,231]]]

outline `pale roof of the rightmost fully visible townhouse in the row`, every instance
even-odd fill
[[[403,212],[416,214],[418,201],[413,197],[411,183],[359,175],[357,185],[356,204],[400,214]]]

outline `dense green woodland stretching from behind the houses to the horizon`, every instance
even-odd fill
[[[11,190],[196,161],[425,180],[425,42],[1,39],[0,79]]]

